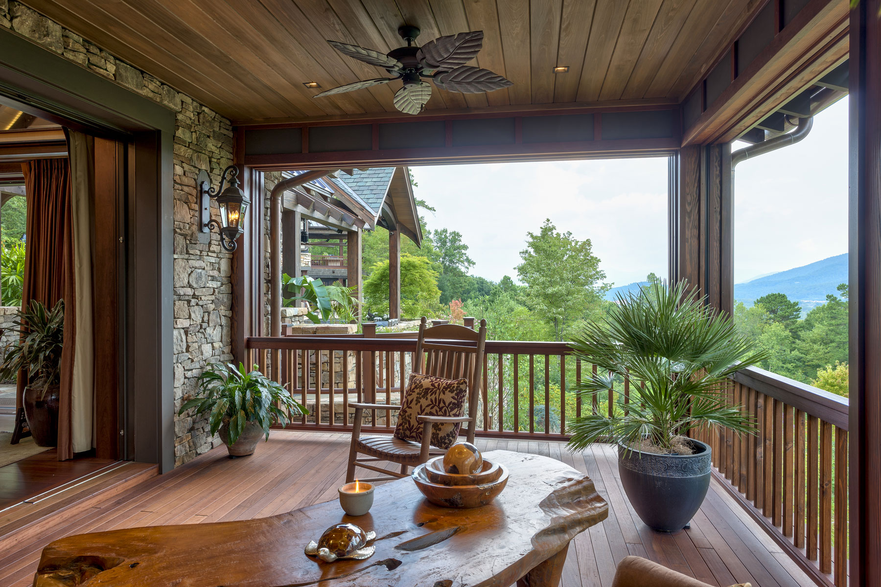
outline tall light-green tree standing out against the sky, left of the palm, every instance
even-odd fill
[[[527,285],[529,307],[552,323],[554,339],[562,341],[567,327],[600,309],[611,286],[603,283],[605,273],[589,238],[558,232],[550,219],[527,236],[517,275]]]

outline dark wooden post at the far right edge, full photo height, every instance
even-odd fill
[[[881,584],[881,0],[850,11],[850,581]]]

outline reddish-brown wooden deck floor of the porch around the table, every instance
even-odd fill
[[[30,585],[42,547],[70,534],[264,517],[334,499],[345,474],[348,441],[342,434],[273,431],[253,457],[227,459],[226,449],[219,447],[172,473],[88,507],[66,510],[50,529],[22,531],[15,547],[0,549],[0,585]],[[555,442],[479,439],[478,445],[485,451],[507,449],[560,459],[588,473],[609,503],[608,519],[574,539],[563,587],[608,587],[616,564],[627,554],[722,587],[747,581],[754,587],[814,585],[716,481],[692,528],[665,534],[643,525],[631,509],[610,445],[581,454]]]

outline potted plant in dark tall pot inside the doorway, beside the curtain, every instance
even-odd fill
[[[22,396],[27,427],[38,446],[58,443],[58,395],[61,383],[61,352],[64,345],[64,302],[47,310],[36,300],[16,312],[13,332],[19,337],[6,345],[0,378],[14,380],[26,370]]]

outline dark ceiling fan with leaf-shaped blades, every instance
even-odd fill
[[[353,84],[340,85],[315,94],[314,97],[352,92],[401,79],[403,88],[395,93],[395,107],[404,114],[419,114],[426,107],[428,99],[432,97],[432,86],[423,81],[423,77],[431,79],[434,85],[450,92],[492,92],[511,85],[510,81],[490,70],[465,65],[474,59],[483,47],[483,31],[439,37],[428,41],[422,47],[413,46],[413,41],[419,36],[418,27],[404,25],[397,29],[397,33],[407,41],[407,46],[389,51],[387,55],[358,45],[329,40],[330,47],[340,53],[381,67],[395,77],[365,79]]]

